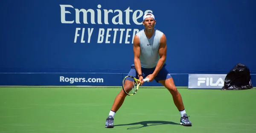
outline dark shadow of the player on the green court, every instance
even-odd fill
[[[157,125],[162,125],[162,124],[175,124],[175,125],[179,125],[178,123],[175,123],[175,122],[172,122],[172,121],[140,121],[140,122],[135,122],[135,123],[130,123],[130,124],[118,124],[118,125],[114,125],[114,127],[116,127],[116,126],[137,125],[137,124],[142,124],[142,126],[139,126],[139,127],[129,127],[127,129],[128,130],[132,130],[132,129],[138,129],[138,128],[142,128],[142,127],[157,126]]]

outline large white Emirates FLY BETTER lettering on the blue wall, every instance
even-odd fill
[[[59,4],[59,8],[61,23],[65,26],[77,26],[70,37],[73,42],[87,44],[132,44],[135,34],[143,28],[143,15],[153,13],[151,9],[140,10],[134,6],[117,7],[106,4]]]

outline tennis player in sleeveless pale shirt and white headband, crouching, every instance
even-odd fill
[[[145,29],[134,36],[134,64],[128,75],[139,79],[143,84],[143,78],[149,81],[157,81],[166,87],[172,94],[173,101],[177,110],[180,111],[180,124],[183,126],[192,126],[189,121],[180,93],[175,87],[171,74],[165,68],[166,64],[166,36],[163,32],[154,29],[156,20],[153,14],[148,13],[143,16],[143,25]],[[113,106],[106,119],[105,127],[113,128],[114,116],[117,110],[122,106],[126,94],[123,90],[116,96]]]

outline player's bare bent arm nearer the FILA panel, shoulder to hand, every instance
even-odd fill
[[[149,81],[153,81],[154,77],[157,76],[158,72],[163,67],[163,64],[166,61],[166,51],[167,51],[166,36],[163,34],[162,37],[160,38],[160,46],[159,46],[160,59],[157,62],[157,66],[156,66],[154,72],[150,75],[152,77],[148,76]]]

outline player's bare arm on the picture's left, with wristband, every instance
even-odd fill
[[[142,74],[141,72],[141,64],[140,64],[140,38],[135,35],[134,36],[134,46],[133,46],[133,50],[134,50],[134,65],[135,65],[135,69],[138,72],[138,74]],[[141,78],[141,79],[140,79]],[[143,77],[139,77],[140,80],[143,80]]]

